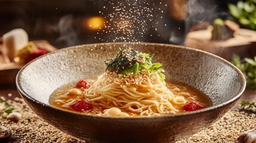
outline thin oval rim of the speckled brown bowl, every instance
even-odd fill
[[[239,74],[239,78],[242,79],[242,88],[239,89],[238,91],[238,94],[236,94],[233,98],[231,98],[230,100],[226,101],[226,102],[223,102],[221,104],[218,104],[218,105],[213,105],[211,107],[207,107],[207,108],[203,108],[201,110],[196,110],[196,111],[189,111],[189,112],[186,112],[186,113],[182,113],[182,114],[168,114],[168,115],[164,115],[164,116],[146,116],[146,117],[122,117],[122,118],[118,118],[118,117],[104,117],[104,116],[91,116],[91,115],[87,115],[87,114],[84,114],[84,113],[78,113],[78,112],[75,112],[75,111],[69,111],[69,110],[61,110],[60,108],[57,108],[57,107],[53,107],[51,105],[47,105],[47,104],[44,104],[38,100],[36,100],[35,98],[32,98],[30,97],[29,94],[27,94],[23,88],[21,87],[20,85],[20,76],[21,76],[21,73],[23,72],[24,69],[27,68],[27,66],[29,66],[31,63],[33,63],[33,61],[35,60],[39,60],[40,58],[43,58],[45,57],[46,55],[51,55],[51,54],[55,54],[55,52],[59,52],[59,51],[66,51],[67,49],[72,49],[72,48],[83,48],[84,46],[106,46],[106,45],[125,45],[125,44],[129,44],[129,45],[132,45],[132,44],[135,44],[135,45],[151,45],[151,46],[165,46],[165,48],[183,48],[183,49],[188,49],[188,50],[192,50],[192,51],[196,51],[196,52],[203,52],[204,54],[207,54],[209,55],[210,57],[213,57],[213,58],[217,58],[217,60],[227,64],[228,66],[232,67],[232,69],[234,69],[238,74]],[[57,110],[57,111],[60,111],[60,112],[67,112],[67,113],[70,113],[70,116],[72,115],[81,115],[81,116],[84,116],[84,117],[88,117],[88,119],[92,118],[92,119],[97,119],[97,118],[100,118],[100,119],[111,119],[111,120],[168,120],[170,118],[183,118],[184,116],[190,116],[192,114],[200,114],[200,113],[204,113],[206,111],[210,111],[210,110],[215,110],[217,108],[220,108],[220,107],[223,107],[224,105],[227,105],[227,104],[231,104],[232,102],[235,102],[236,100],[238,100],[240,98],[240,96],[243,94],[243,91],[245,91],[245,87],[246,87],[246,82],[245,82],[245,77],[243,76],[243,73],[237,68],[235,67],[232,63],[230,63],[229,61],[227,60],[224,60],[223,58],[221,57],[218,57],[217,55],[214,55],[214,54],[211,54],[209,52],[206,52],[206,51],[202,51],[200,49],[194,49],[194,48],[189,48],[189,47],[186,47],[186,46],[178,46],[178,45],[171,45],[171,44],[166,44],[166,43],[146,43],[146,42],[140,42],[140,43],[129,43],[129,42],[109,42],[109,43],[91,43],[91,44],[85,44],[85,45],[77,45],[77,46],[70,46],[70,47],[67,47],[67,48],[63,48],[63,49],[58,49],[57,51],[53,51],[53,52],[50,52],[48,54],[45,54],[45,55],[42,55],[41,57],[39,58],[36,58],[35,60],[32,60],[30,61],[29,63],[27,63],[17,74],[16,76],[16,86],[17,86],[17,89],[18,89],[18,92],[20,92],[21,94],[21,97],[22,98],[27,98],[27,100],[30,100],[32,102],[36,102],[36,104],[40,104],[42,106],[45,106],[45,107],[48,107],[48,108],[52,108],[53,110]]]

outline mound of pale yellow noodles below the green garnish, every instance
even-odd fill
[[[175,97],[158,74],[146,79],[147,82],[141,81],[142,84],[127,85],[113,81],[111,74],[115,73],[106,71],[99,76],[85,92],[85,98],[102,108],[118,107],[141,116],[174,114],[178,111],[174,106],[186,102],[182,95]]]

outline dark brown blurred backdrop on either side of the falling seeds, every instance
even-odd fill
[[[121,1],[125,2],[125,0]],[[233,18],[227,4],[237,2],[238,0],[149,1],[149,4],[158,4],[150,4],[148,7],[161,8],[164,13],[161,15],[162,18],[155,17],[152,23],[148,23],[150,27],[150,24],[158,21],[159,24],[155,26],[158,31],[149,29],[150,32],[145,32],[147,38],[142,42],[184,45],[187,32],[196,24],[202,21],[212,23],[215,18]],[[163,7],[165,4],[166,7]],[[12,29],[22,28],[28,33],[30,41],[45,39],[57,48],[106,42],[99,38],[109,35],[97,34],[99,29],[88,27],[88,24],[102,20],[92,18],[104,18],[104,15],[113,13],[104,9],[107,5],[109,2],[102,0],[0,1],[0,36]],[[104,15],[99,11],[104,11]],[[158,14],[158,12],[152,13]],[[92,21],[88,23],[88,20]]]

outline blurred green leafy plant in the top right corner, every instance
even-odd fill
[[[256,30],[256,0],[239,1],[236,5],[227,4],[229,13],[246,29]]]

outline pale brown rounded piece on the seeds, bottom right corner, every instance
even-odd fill
[[[243,132],[238,137],[238,142],[244,142],[244,143],[256,142],[256,128]]]

